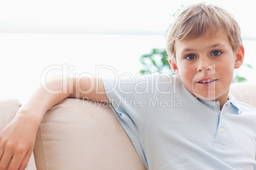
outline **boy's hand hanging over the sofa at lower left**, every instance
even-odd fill
[[[39,124],[18,114],[0,133],[0,170],[25,169],[31,157]]]

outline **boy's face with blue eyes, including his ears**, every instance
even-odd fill
[[[243,63],[244,49],[240,46],[234,53],[223,33],[207,35],[176,41],[176,63],[169,62],[192,95],[218,100],[223,105],[227,101],[234,69]]]

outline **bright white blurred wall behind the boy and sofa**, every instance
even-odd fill
[[[254,39],[255,23],[245,18],[255,16],[255,10],[249,2],[243,2],[213,1],[215,4],[222,4],[235,15],[241,25],[243,37]],[[26,100],[40,86],[41,74],[50,67],[56,69],[48,72],[47,76],[62,74],[63,70],[57,70],[62,66],[67,74],[89,72],[95,75],[97,65],[113,67],[118,74],[136,74],[142,69],[139,56],[149,53],[152,48],[164,48],[165,38],[161,32],[166,31],[172,14],[180,4],[189,3],[191,2],[138,0],[1,1],[0,98]],[[11,30],[13,27],[3,26],[6,23],[34,25],[35,22],[39,25],[68,25],[73,30],[98,30],[99,34],[18,33],[21,29]],[[115,35],[113,30],[126,35]],[[36,32],[36,29],[32,28],[31,32]],[[101,34],[104,32],[111,34]],[[154,34],[148,35],[148,32]],[[256,41],[245,39],[244,45],[245,63],[256,68]],[[240,75],[244,75],[249,82],[255,82],[255,69],[244,67],[240,70]],[[108,76],[111,71],[101,74]]]

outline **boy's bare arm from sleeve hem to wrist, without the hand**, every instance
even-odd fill
[[[37,119],[36,121],[39,124],[47,110],[65,98],[87,98],[89,100],[110,103],[101,78],[76,77],[65,81],[61,77],[52,79],[45,86],[39,88],[32,98],[22,105],[17,115],[24,114],[23,112],[32,114],[31,116]],[[29,113],[31,111],[36,112],[36,114]]]

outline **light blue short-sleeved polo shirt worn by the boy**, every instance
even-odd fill
[[[146,169],[256,169],[256,109],[197,99],[168,74],[103,79]]]

